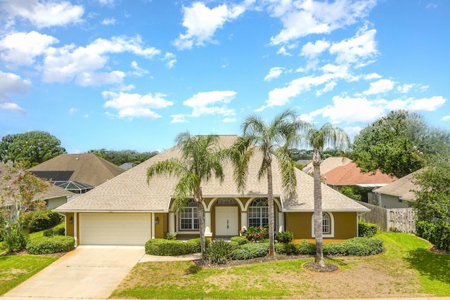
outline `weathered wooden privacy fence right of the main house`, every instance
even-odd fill
[[[367,223],[375,223],[379,230],[398,233],[416,233],[416,211],[407,209],[385,209],[366,202],[359,204],[371,209],[360,218]]]

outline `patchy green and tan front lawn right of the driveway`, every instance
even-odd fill
[[[381,233],[384,254],[328,259],[339,273],[302,269],[311,259],[201,268],[190,261],[138,263],[111,295],[138,299],[381,298],[450,296],[450,255],[413,235]]]

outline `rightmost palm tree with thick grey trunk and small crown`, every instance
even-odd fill
[[[320,129],[309,124],[306,132],[306,143],[313,148],[312,164],[314,167],[314,235],[316,239],[316,263],[325,266],[323,262],[322,237],[322,190],[321,190],[321,155],[323,147],[333,145],[339,150],[347,150],[349,137],[347,133],[331,124],[324,124]]]

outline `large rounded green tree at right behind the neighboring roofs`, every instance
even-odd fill
[[[450,133],[428,126],[407,110],[392,111],[375,120],[354,138],[352,159],[363,171],[406,176],[424,166],[423,157],[450,145]]]

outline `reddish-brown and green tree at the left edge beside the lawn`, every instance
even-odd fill
[[[23,226],[27,224],[25,214],[45,209],[45,202],[35,196],[48,187],[30,172],[6,166],[6,174],[0,178],[4,191],[0,198],[0,232],[11,252],[25,249],[26,236]]]

